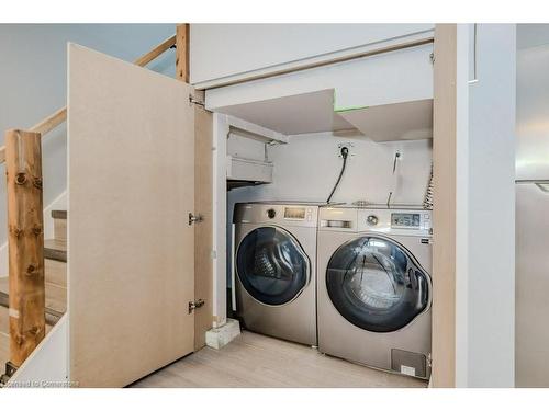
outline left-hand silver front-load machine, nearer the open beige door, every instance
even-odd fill
[[[250,331],[315,346],[317,203],[242,203],[233,217],[233,293]]]

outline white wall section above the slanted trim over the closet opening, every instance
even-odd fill
[[[191,83],[210,87],[232,78],[325,61],[433,24],[192,24]],[[430,34],[428,34],[430,35]],[[253,50],[253,53],[250,53]]]

